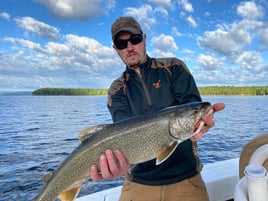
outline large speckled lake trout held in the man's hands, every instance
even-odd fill
[[[82,130],[81,144],[46,177],[46,186],[34,200],[74,200],[82,183],[89,179],[90,166],[98,164],[107,149],[120,149],[133,165],[154,158],[156,165],[164,163],[179,143],[201,130],[201,117],[209,112],[210,103],[195,102]]]

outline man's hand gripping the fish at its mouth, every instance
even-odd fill
[[[214,121],[214,118],[213,118],[214,113],[218,112],[218,111],[221,111],[224,108],[225,108],[224,103],[216,103],[216,104],[212,105],[213,112],[205,114],[205,115],[202,116],[202,121],[204,122],[204,126],[203,126],[203,128],[201,129],[201,131],[199,133],[197,133],[196,135],[191,137],[191,140],[192,141],[200,140],[202,138],[203,134],[208,132],[208,130],[214,126],[214,124],[215,124],[215,121]]]

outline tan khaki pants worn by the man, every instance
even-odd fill
[[[119,201],[209,201],[200,174],[179,183],[149,186],[125,180]]]

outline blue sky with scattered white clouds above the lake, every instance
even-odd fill
[[[198,86],[268,85],[267,0],[1,0],[0,91],[108,88],[125,69],[110,33],[119,16]]]

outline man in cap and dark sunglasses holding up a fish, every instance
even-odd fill
[[[181,60],[147,55],[146,34],[134,18],[118,18],[111,32],[113,48],[126,64],[122,76],[109,89],[113,121],[201,101],[194,78]],[[213,106],[214,112],[223,108],[224,104]],[[214,125],[213,114],[204,115],[202,120],[205,126],[201,132],[182,142],[163,164],[155,165],[151,160],[130,169],[124,153],[107,150],[100,156],[100,166],[91,167],[91,178],[99,181],[126,175],[120,201],[208,201],[196,140]]]

